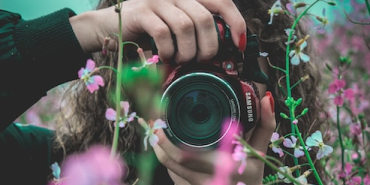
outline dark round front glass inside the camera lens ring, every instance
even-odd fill
[[[212,85],[202,84],[185,86],[178,92],[171,104],[176,112],[171,115],[171,120],[176,120],[179,132],[194,139],[204,139],[219,131],[223,116],[227,116],[230,109],[225,96],[215,90]]]

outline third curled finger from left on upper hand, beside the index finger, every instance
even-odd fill
[[[197,61],[211,59],[218,51],[217,31],[211,12],[197,1],[177,1],[176,6],[182,9],[195,25]]]

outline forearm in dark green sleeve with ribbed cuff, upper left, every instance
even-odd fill
[[[13,21],[7,30],[1,45],[8,54],[0,55],[0,132],[48,90],[77,79],[77,71],[91,57],[73,32],[71,16],[71,10],[63,9],[34,20]]]

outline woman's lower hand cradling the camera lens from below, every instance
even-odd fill
[[[271,95],[261,100],[261,119],[255,129],[245,136],[245,140],[256,150],[266,153],[271,135],[276,127],[274,101]],[[248,157],[243,174],[238,174],[240,162],[232,158],[232,148],[212,152],[191,153],[174,146],[163,131],[158,131],[158,145],[154,151],[159,161],[168,168],[176,185],[207,185],[210,182],[236,185],[244,182],[248,185],[262,183],[264,163],[257,158]],[[215,181],[213,181],[215,180]]]

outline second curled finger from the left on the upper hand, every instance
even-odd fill
[[[175,61],[183,63],[194,58],[196,54],[196,38],[194,23],[191,18],[181,9],[164,1],[158,1],[158,5],[153,8],[154,12],[164,20],[176,37],[177,52]]]

